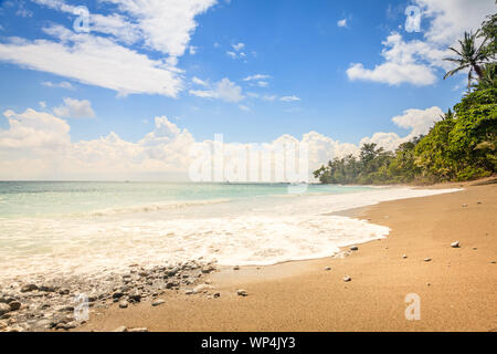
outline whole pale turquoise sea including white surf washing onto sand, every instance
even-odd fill
[[[188,260],[267,266],[337,254],[389,228],[332,215],[444,194],[288,184],[0,181],[0,281]]]

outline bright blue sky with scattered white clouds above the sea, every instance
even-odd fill
[[[192,146],[309,169],[426,134],[494,0],[0,0],[0,179],[188,179]]]

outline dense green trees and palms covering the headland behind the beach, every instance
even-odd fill
[[[314,171],[324,184],[395,184],[468,180],[497,169],[497,14],[476,33],[465,33],[451,50],[457,63],[445,77],[468,70],[468,92],[425,136],[401,144],[394,152],[364,144],[358,157],[335,158]],[[477,39],[483,42],[476,45]],[[477,74],[474,83],[473,72]],[[444,77],[444,79],[445,79]]]

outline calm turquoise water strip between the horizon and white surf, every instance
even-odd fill
[[[308,185],[304,194],[346,194],[369,189]],[[0,217],[62,216],[166,202],[172,205],[175,201],[248,201],[287,195],[286,184],[0,181]]]

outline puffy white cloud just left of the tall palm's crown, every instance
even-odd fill
[[[451,56],[448,45],[455,44],[464,31],[476,30],[485,15],[495,11],[494,0],[416,0],[423,19],[429,20],[424,40],[404,41],[402,35],[391,32],[382,42],[383,63],[373,69],[362,63],[352,63],[347,70],[349,80],[372,81],[416,86],[434,84],[438,70],[450,70],[452,65],[443,61]]]

